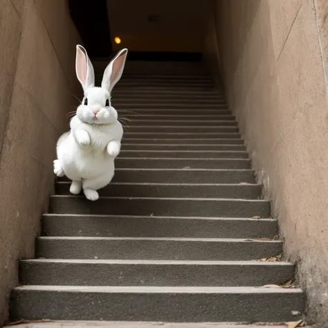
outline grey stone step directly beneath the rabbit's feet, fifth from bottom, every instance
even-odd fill
[[[54,195],[49,210],[55,214],[156,215],[180,217],[270,217],[270,202],[249,199],[100,197]]]

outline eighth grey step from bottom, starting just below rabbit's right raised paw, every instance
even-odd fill
[[[157,169],[250,169],[250,160],[246,158],[170,158],[122,157],[115,160],[118,168],[157,168]]]

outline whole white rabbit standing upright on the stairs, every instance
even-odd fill
[[[80,194],[83,188],[90,201],[97,200],[97,190],[113,179],[114,159],[120,153],[123,129],[116,109],[111,107],[111,89],[122,76],[126,58],[127,49],[118,52],[104,71],[101,87],[96,87],[86,50],[76,46],[75,70],[84,98],[70,122],[71,131],[57,141],[53,166],[57,176],[72,180],[72,194]]]

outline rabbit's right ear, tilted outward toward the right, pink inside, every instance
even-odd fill
[[[115,84],[120,80],[120,77],[122,76],[126,59],[127,49],[122,49],[104,70],[104,76],[101,82],[102,88],[111,92],[113,86],[115,86]]]

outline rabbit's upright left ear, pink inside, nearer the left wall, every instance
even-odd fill
[[[95,86],[95,73],[86,50],[78,44],[76,46],[75,71],[84,91]]]

